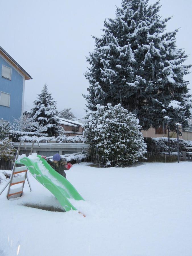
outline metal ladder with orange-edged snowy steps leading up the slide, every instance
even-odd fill
[[[33,146],[34,146],[35,141],[36,140],[34,140],[33,143],[32,143],[32,148],[31,148],[30,155],[32,154],[32,150],[33,150]],[[36,142],[38,143],[38,146],[40,146],[39,142],[38,141],[36,141]],[[19,147],[18,147],[18,150],[17,150],[17,154],[16,154],[16,158],[15,158],[15,163],[14,163],[13,169],[12,169],[11,178],[0,193],[0,195],[1,195],[3,193],[3,191],[6,189],[6,187],[9,185],[9,189],[8,189],[8,192],[7,192],[7,199],[22,196],[23,188],[24,188],[26,179],[27,179],[30,191],[31,191],[31,186],[30,186],[29,179],[28,179],[28,176],[27,176],[28,169],[26,168],[26,166],[16,167],[16,160],[18,158],[19,151],[20,151],[22,143],[24,144],[24,147],[26,148],[24,141],[20,141],[20,144],[19,144]],[[21,177],[14,177],[14,175],[19,174],[19,173],[25,173],[25,175],[21,176]],[[12,189],[13,185],[18,185],[18,184],[22,184],[22,186],[20,186],[20,187],[17,186],[15,189],[14,188]]]

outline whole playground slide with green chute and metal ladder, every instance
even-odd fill
[[[65,179],[61,174],[57,173],[45,159],[41,158],[40,155],[32,156],[32,150],[34,146],[34,142],[32,143],[32,148],[29,157],[23,156],[18,160],[18,155],[20,151],[21,144],[25,143],[23,141],[20,142],[19,148],[17,150],[15,163],[13,166],[12,175],[9,183],[4,187],[1,193],[5,190],[5,188],[9,185],[7,199],[15,198],[22,196],[25,179],[27,178],[29,187],[30,183],[27,177],[27,171],[35,177],[37,181],[39,181],[44,187],[46,187],[59,201],[59,203],[63,206],[65,211],[69,211],[71,209],[77,210],[69,201],[69,199],[75,200],[84,200],[81,195],[77,192],[77,190],[73,187],[73,185]],[[38,143],[38,141],[36,141]],[[39,146],[39,143],[38,143]],[[21,167],[16,167],[16,164],[23,164]],[[18,174],[21,172],[25,172],[24,178],[14,177],[14,174]],[[22,188],[20,191],[11,192],[11,187],[16,184],[22,184]],[[31,187],[30,187],[31,190]],[[1,195],[0,193],[0,195]]]

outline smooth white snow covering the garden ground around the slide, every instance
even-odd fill
[[[131,168],[75,164],[67,178],[86,200],[80,210],[51,212],[55,197],[29,175],[21,198],[0,196],[1,256],[192,255],[192,162]],[[1,183],[0,190],[5,181]]]

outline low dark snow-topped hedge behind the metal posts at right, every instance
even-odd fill
[[[144,141],[147,144],[147,152],[152,152],[153,154],[159,153],[168,153],[168,138],[144,138]],[[179,152],[182,153],[183,148],[192,147],[192,141],[185,141],[183,139],[179,139]],[[177,139],[170,138],[170,152],[177,152]]]

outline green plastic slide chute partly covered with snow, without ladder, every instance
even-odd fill
[[[16,163],[24,164],[36,180],[57,198],[65,211],[71,209],[77,210],[68,199],[84,200],[81,195],[73,185],[65,179],[65,177],[56,172],[45,159],[41,158],[40,155],[37,155],[37,157],[36,159],[30,159],[24,156],[16,161]]]

